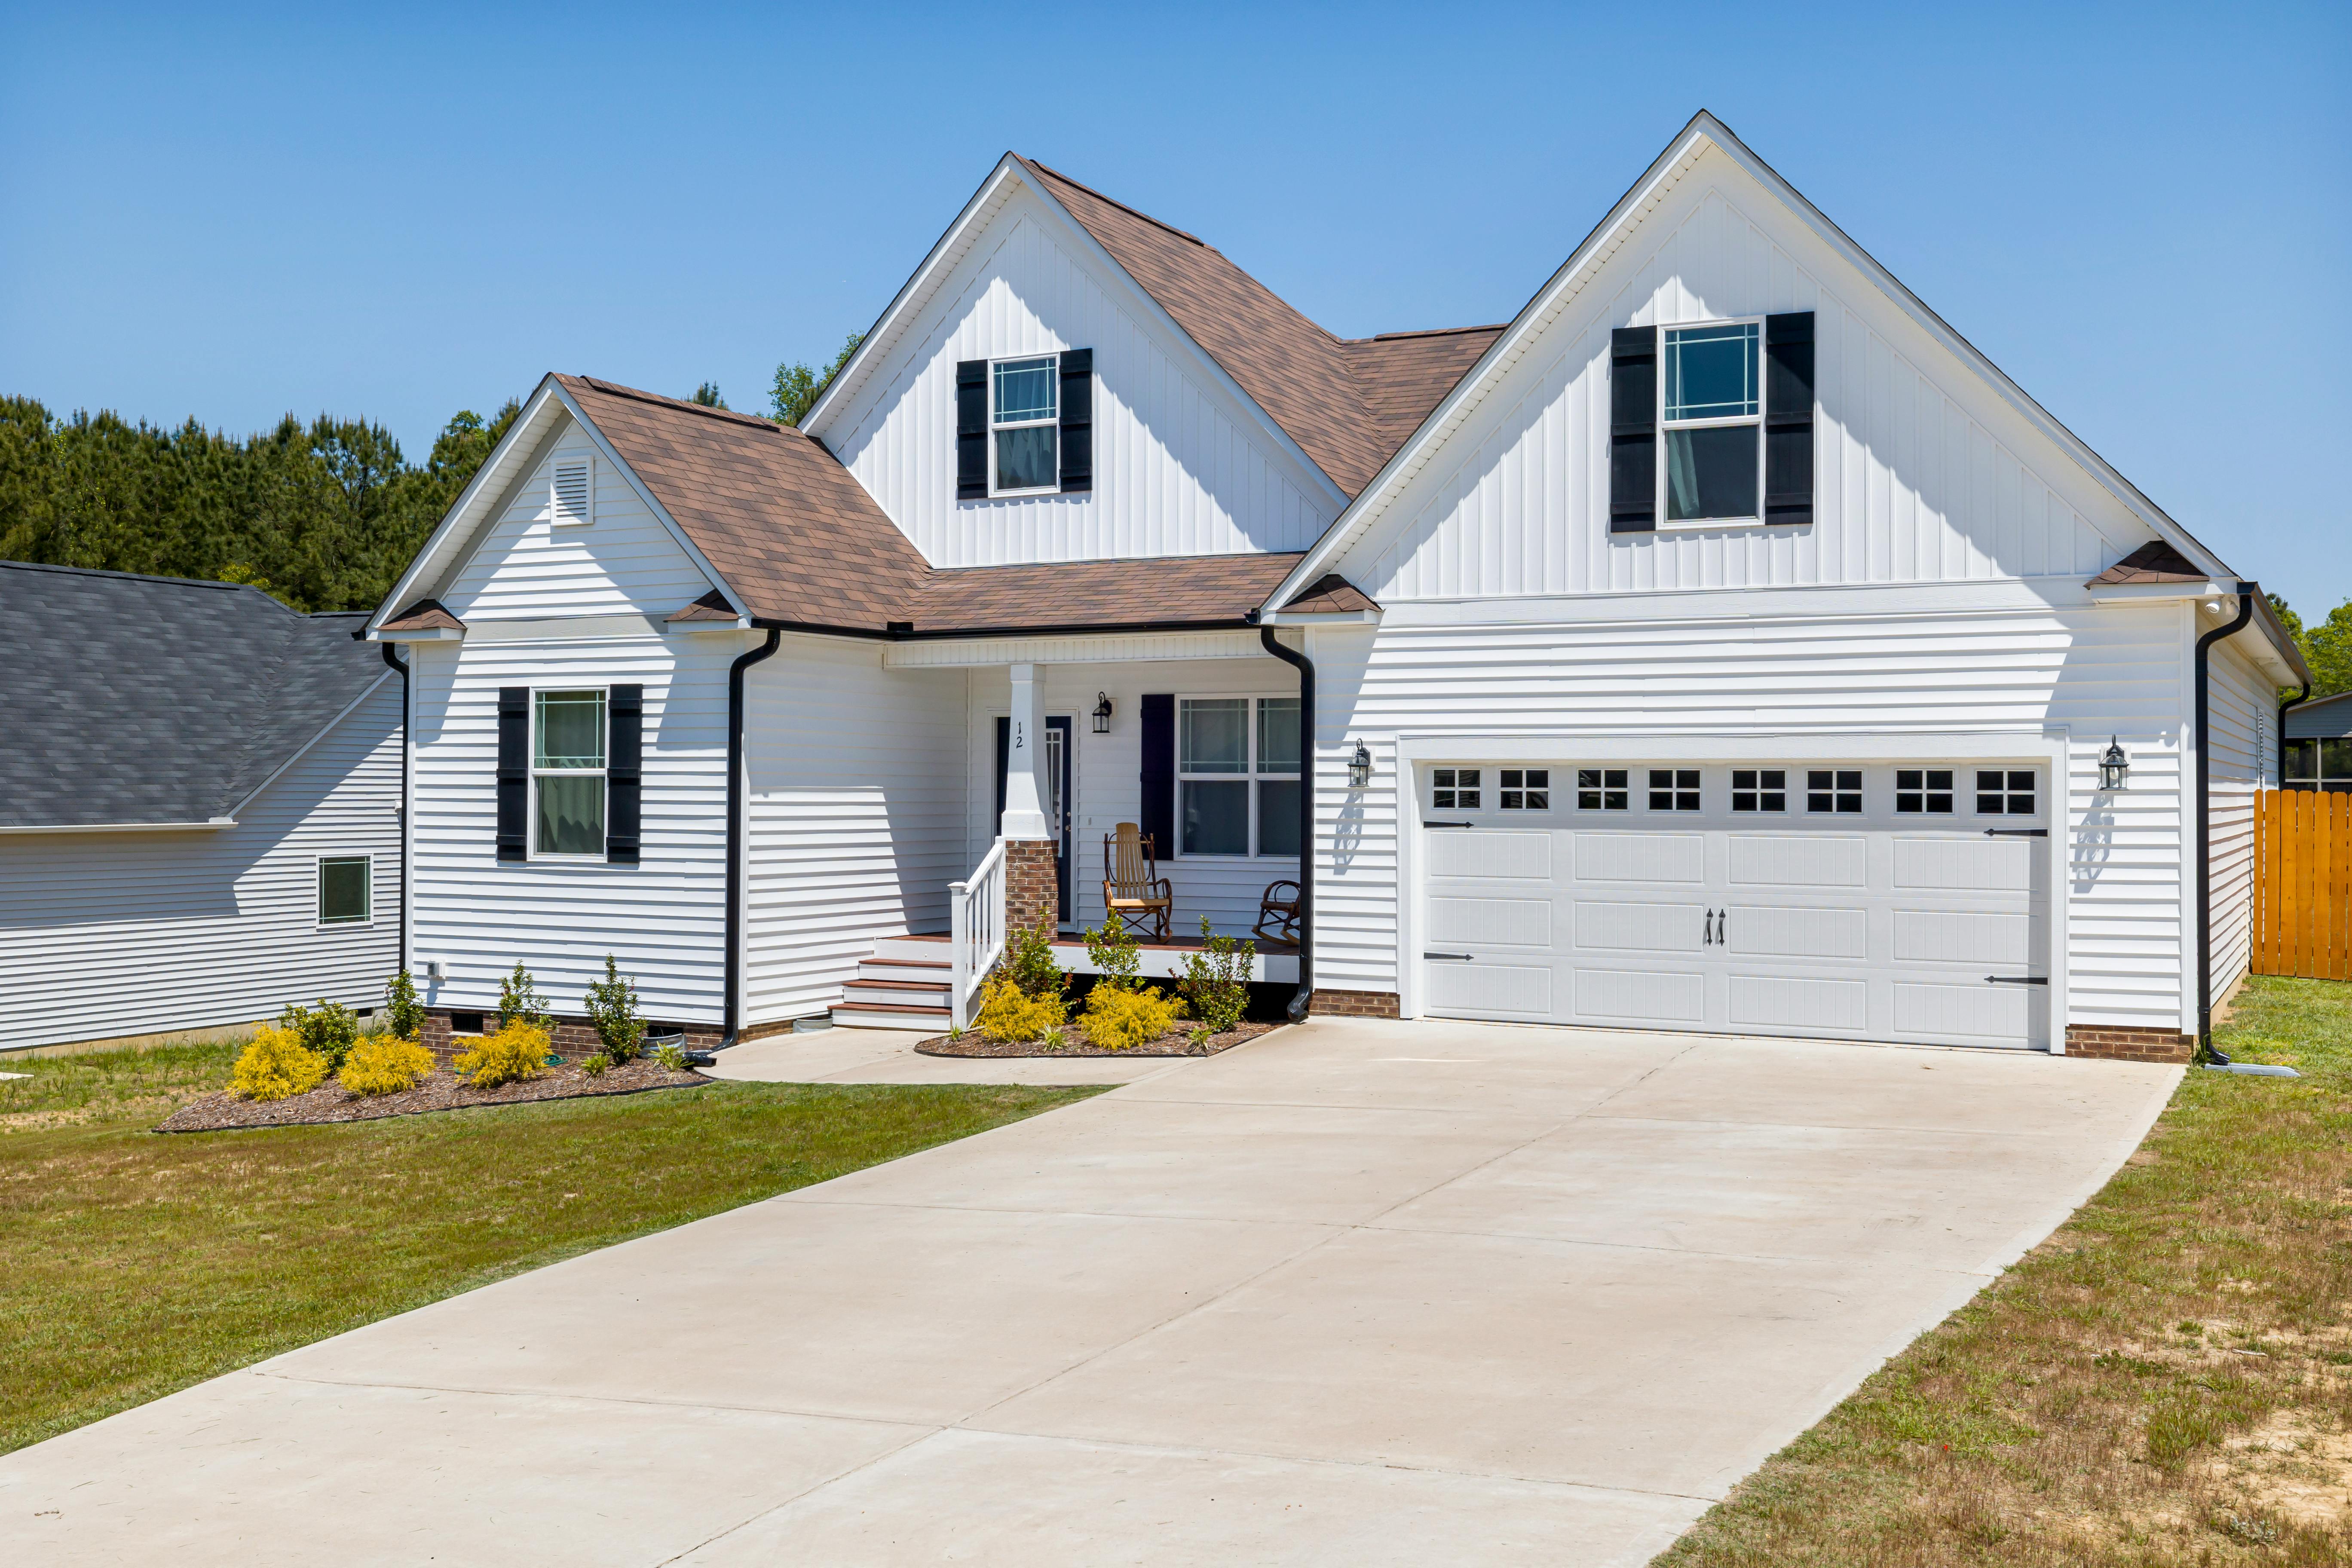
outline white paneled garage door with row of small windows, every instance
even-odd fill
[[[2046,1046],[2046,771],[1423,766],[1425,1011]]]

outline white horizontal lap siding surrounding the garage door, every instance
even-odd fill
[[[1745,614],[1693,616],[1646,597],[1642,621],[1590,599],[1529,604],[1522,623],[1449,623],[1454,607],[1392,609],[1376,632],[1312,637],[1319,689],[1317,985],[1399,990],[1397,736],[1853,736],[2020,733],[2070,726],[2072,764],[2053,842],[2070,898],[2070,1020],[2178,1030],[2183,1018],[2180,609],[2034,604],[1865,614],[1856,590],[1750,590]],[[2079,588],[2074,588],[2077,599]],[[1545,621],[1543,614],[1557,614]],[[1616,602],[1625,614],[1630,602]],[[1726,607],[1729,609],[1729,607]],[[2131,752],[2131,790],[2098,790],[2107,736]],[[1348,790],[1352,743],[1374,783]],[[1564,783],[1555,780],[1564,792]],[[2053,804],[2058,795],[2053,790]]]

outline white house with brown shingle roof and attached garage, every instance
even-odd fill
[[[1134,820],[1178,933],[1310,875],[1317,1011],[2180,1056],[2249,592],[1700,115],[1512,322],[1374,339],[1007,155],[804,430],[548,376],[369,637],[459,1025],[607,952],[943,1020],[906,938],[1098,922]]]

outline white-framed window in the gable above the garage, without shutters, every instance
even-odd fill
[[[1668,527],[1764,517],[1764,322],[1661,334],[1661,501]]]

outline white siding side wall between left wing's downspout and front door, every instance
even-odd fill
[[[964,858],[964,670],[786,637],[743,684],[743,1023],[807,1018],[884,936],[946,931]]]

